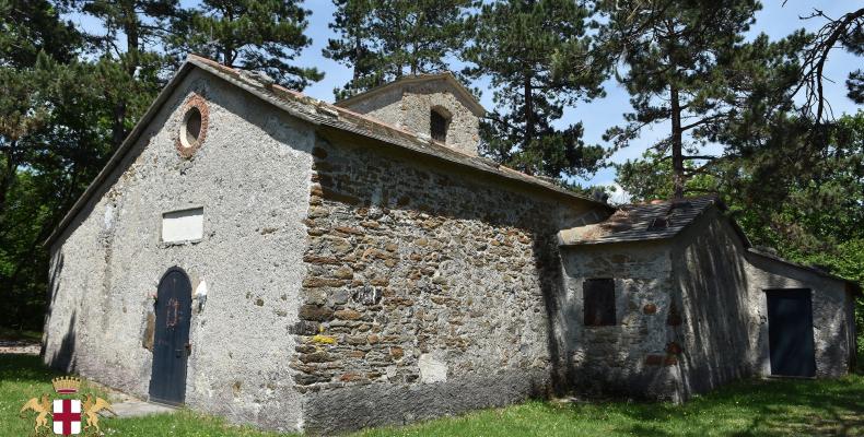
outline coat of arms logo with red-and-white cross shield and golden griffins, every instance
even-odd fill
[[[81,379],[75,377],[59,377],[51,380],[54,391],[57,394],[74,394],[81,388]],[[110,412],[110,403],[102,398],[93,398],[87,394],[83,402],[80,399],[55,399],[51,401],[48,394],[40,398],[33,398],[21,408],[20,416],[23,418],[24,412],[36,413],[36,422],[33,427],[35,436],[46,436],[49,432],[56,435],[71,436],[78,434],[100,435],[100,413]],[[48,414],[51,415],[51,426],[48,426]],[[81,426],[82,417],[86,425]]]

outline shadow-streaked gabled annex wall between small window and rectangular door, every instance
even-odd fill
[[[675,286],[684,324],[676,332],[685,397],[744,378],[759,368],[767,316],[748,283],[739,238],[711,210],[676,241]],[[762,339],[764,335],[764,339]]]

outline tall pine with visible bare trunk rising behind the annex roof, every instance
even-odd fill
[[[760,129],[792,105],[796,64],[790,54],[803,35],[745,43],[759,8],[756,0],[600,3],[609,17],[603,37],[626,67],[619,81],[634,109],[624,115],[628,125],[609,129],[605,139],[622,147],[643,128],[668,122],[668,137],[652,147],[672,161],[675,198],[685,196],[688,176],[715,165],[717,156],[701,153],[708,142],[728,139],[732,129]],[[726,150],[723,160],[739,152]],[[704,164],[688,169],[687,161]]]

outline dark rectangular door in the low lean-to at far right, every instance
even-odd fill
[[[816,376],[810,294],[808,288],[766,291],[771,375]]]

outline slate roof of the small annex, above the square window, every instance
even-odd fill
[[[714,196],[621,205],[600,223],[562,231],[561,244],[580,246],[673,238],[713,204],[720,204]]]

